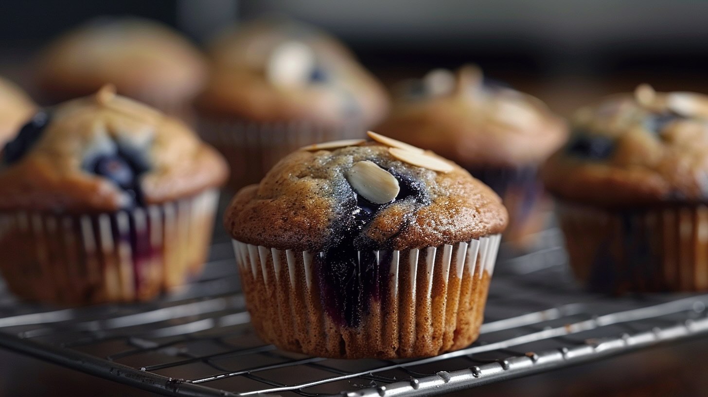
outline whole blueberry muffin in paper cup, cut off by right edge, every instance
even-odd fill
[[[582,108],[542,174],[588,288],[708,290],[708,96],[642,85]]]

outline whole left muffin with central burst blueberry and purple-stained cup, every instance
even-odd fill
[[[200,270],[227,166],[181,121],[105,86],[39,111],[0,171],[0,271],[33,301],[146,300]]]

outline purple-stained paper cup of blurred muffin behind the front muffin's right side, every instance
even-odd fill
[[[524,167],[475,167],[467,169],[491,187],[509,211],[504,240],[518,249],[532,248],[534,237],[545,230],[552,200],[544,191],[535,165]]]

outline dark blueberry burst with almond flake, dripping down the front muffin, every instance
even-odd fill
[[[357,327],[372,299],[379,300],[389,284],[390,258],[377,260],[376,251],[385,247],[365,235],[367,225],[394,203],[413,201],[419,207],[428,203],[429,195],[421,181],[369,160],[353,164],[346,180],[350,194],[343,203],[344,216],[334,226],[338,237],[315,264],[326,311],[337,323]]]

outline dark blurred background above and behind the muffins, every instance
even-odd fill
[[[268,13],[329,30],[389,84],[476,62],[561,114],[640,82],[708,91],[708,1],[697,0],[4,0],[0,72],[23,84],[42,43],[92,16],[155,18],[205,43]]]

